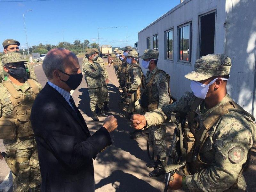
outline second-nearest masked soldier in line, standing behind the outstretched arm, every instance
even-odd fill
[[[168,93],[168,79],[165,72],[160,71],[156,66],[158,51],[147,49],[140,58],[143,59],[142,66],[148,69],[144,79],[143,93],[148,98],[148,108],[146,110],[153,111],[156,108],[168,105],[171,95]],[[157,157],[156,162],[146,164],[147,167],[155,168],[149,173],[150,177],[157,177],[160,174],[164,174],[163,166],[166,164],[165,133],[166,128],[164,124],[152,125],[148,128],[148,144],[150,147],[153,147],[153,152]]]

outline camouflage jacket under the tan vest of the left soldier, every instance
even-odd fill
[[[7,81],[11,82],[8,78]],[[12,83],[12,82],[11,82]],[[39,91],[42,90],[42,85],[35,81],[35,84],[37,85]],[[20,95],[23,94],[30,94],[33,92],[32,88],[30,87],[30,84],[28,81],[26,81],[23,85],[16,85],[13,84],[14,88],[19,92]],[[13,112],[13,105],[10,100],[11,94],[7,89],[4,87],[3,83],[0,83],[0,117],[12,115]],[[3,140],[4,146],[8,149],[27,149],[32,148],[36,146],[35,140],[32,139],[23,139],[23,138],[17,138],[14,140]]]

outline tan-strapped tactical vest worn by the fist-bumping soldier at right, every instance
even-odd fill
[[[207,162],[203,162],[202,158],[200,157],[200,150],[204,145],[206,139],[209,137],[209,129],[214,124],[216,124],[222,116],[229,113],[230,111],[236,111],[247,116],[246,119],[248,119],[249,121],[255,121],[255,118],[250,113],[245,111],[242,107],[240,107],[237,103],[235,103],[234,101],[228,101],[226,104],[221,105],[213,110],[202,123],[203,127],[200,127],[200,129],[198,129],[199,121],[197,119],[196,109],[198,108],[201,101],[202,99],[196,98],[190,108],[190,112],[186,117],[186,124],[184,127],[183,135],[183,143],[187,151],[187,164],[184,168],[185,174],[195,174],[196,172],[199,172],[202,169],[207,168],[211,165],[207,164]],[[248,165],[249,159],[250,157],[248,156],[247,162],[244,164],[243,169],[245,166]],[[240,174],[242,174],[243,169],[241,170]]]

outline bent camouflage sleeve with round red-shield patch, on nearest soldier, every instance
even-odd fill
[[[238,178],[238,188],[245,190],[246,183],[239,173],[252,148],[255,127],[252,120],[237,112],[221,117],[213,126],[215,134],[210,137],[213,146],[210,150],[215,151],[213,164],[194,175],[187,175],[188,189],[221,192],[231,187]]]

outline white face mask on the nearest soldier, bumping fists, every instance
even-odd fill
[[[196,97],[205,99],[206,94],[209,90],[209,86],[213,84],[217,79],[228,81],[228,79],[225,79],[225,78],[216,78],[216,79],[213,79],[208,85],[202,84],[198,81],[191,81],[190,88],[192,89]]]

